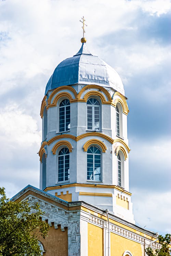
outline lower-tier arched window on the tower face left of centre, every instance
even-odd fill
[[[58,182],[69,180],[69,149],[62,148],[58,153]]]

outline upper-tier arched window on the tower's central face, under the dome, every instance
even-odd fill
[[[87,129],[100,130],[100,103],[95,98],[87,101]]]

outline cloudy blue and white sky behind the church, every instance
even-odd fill
[[[120,75],[128,97],[130,192],[142,228],[171,233],[171,1],[0,0],[0,186],[39,187],[45,86],[86,46]]]

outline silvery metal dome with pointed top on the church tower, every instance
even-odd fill
[[[77,54],[57,65],[46,86],[45,95],[51,89],[73,84],[95,84],[111,87],[124,95],[118,73],[105,61],[93,56],[85,43]]]

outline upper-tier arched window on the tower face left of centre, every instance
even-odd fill
[[[70,129],[70,102],[64,99],[60,103],[60,132],[66,132]]]

